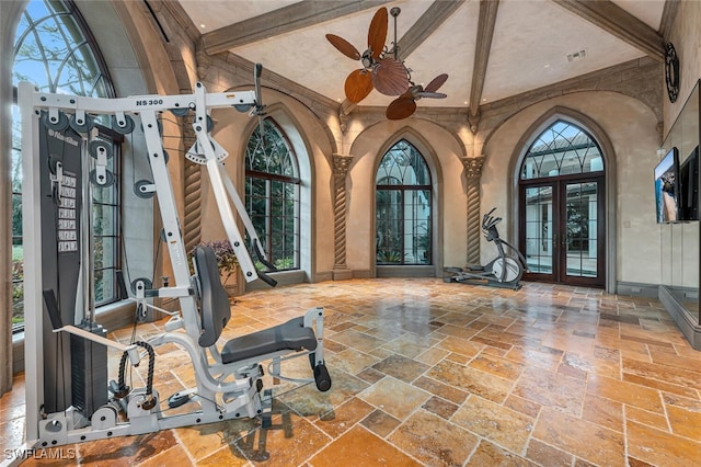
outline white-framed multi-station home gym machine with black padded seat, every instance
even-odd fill
[[[255,66],[255,91],[207,93],[197,83],[194,93],[94,99],[37,92],[20,84],[22,110],[23,229],[25,291],[26,446],[50,447],[156,432],[237,418],[260,417],[271,423],[272,391],[263,390],[263,363],[275,378],[314,381],[329,390],[324,365],[321,307],[269,329],[218,345],[231,316],[214,250],[198,247],[191,275],[173,185],[163,149],[159,115],[171,112],[193,117],[196,143],[186,157],[206,169],[227,237],[243,277],[275,281],[256,271],[237,226],[234,210],[252,248],[265,254],[238,192],[223,169],[228,152],[212,138],[211,109],[233,107],[258,118],[264,112]],[[159,309],[171,318],[165,331],[128,344],[107,339],[95,322],[93,291],[92,191],[115,183],[107,169],[112,146],[99,139],[94,122],[110,119],[113,132],[127,135],[140,123],[152,182],[135,185],[139,197],[157,196],[174,278],[160,288],[148,280],[131,282],[139,306]],[[140,121],[140,122],[139,122]],[[173,284],[174,283],[174,284]],[[128,292],[122,281],[122,295]],[[152,305],[153,298],[177,301],[177,311]],[[49,318],[49,319],[46,319]],[[154,348],[172,343],[185,351],[195,387],[170,397],[153,385]],[[219,342],[221,344],[221,342]],[[122,352],[118,380],[107,383],[107,348]],[[128,364],[148,355],[146,387],[129,388]],[[288,378],[281,364],[296,356],[310,363],[308,378]],[[136,384],[135,384],[136,385]],[[179,410],[169,410],[179,408]]]

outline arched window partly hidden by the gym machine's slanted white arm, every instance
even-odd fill
[[[245,206],[278,271],[299,269],[299,166],[287,136],[271,117],[245,149]],[[263,136],[263,137],[261,137]]]

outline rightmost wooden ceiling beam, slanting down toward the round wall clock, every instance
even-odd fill
[[[599,26],[609,34],[644,52],[655,60],[665,60],[665,42],[662,35],[612,1],[553,1],[591,24]]]

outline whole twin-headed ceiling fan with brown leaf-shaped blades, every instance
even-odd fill
[[[360,54],[348,41],[335,34],[326,34],[326,39],[338,52],[353,60],[360,60],[363,68],[352,71],[346,78],[344,90],[348,101],[357,104],[368,96],[372,89],[384,95],[399,95],[387,109],[389,119],[402,119],[416,111],[416,101],[422,98],[443,99],[446,94],[436,92],[448,75],[434,78],[425,88],[411,81],[411,70],[399,58],[397,43],[397,16],[401,9],[394,7],[390,14],[394,18],[394,42],[392,50],[384,46],[388,30],[387,8],[380,8],[370,22],[368,48]]]

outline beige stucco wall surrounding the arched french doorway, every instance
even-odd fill
[[[640,101],[612,92],[582,92],[554,98],[525,109],[509,118],[485,146],[482,171],[481,210],[497,208],[504,217],[503,231],[514,238],[513,208],[517,193],[508,198],[514,173],[509,161],[519,138],[553,106],[578,111],[597,122],[613,147],[617,164],[617,280],[655,284],[659,281],[659,228],[655,223],[652,170],[657,163],[657,118]],[[506,226],[509,226],[506,230]],[[494,248],[482,239],[482,263],[494,257]]]

